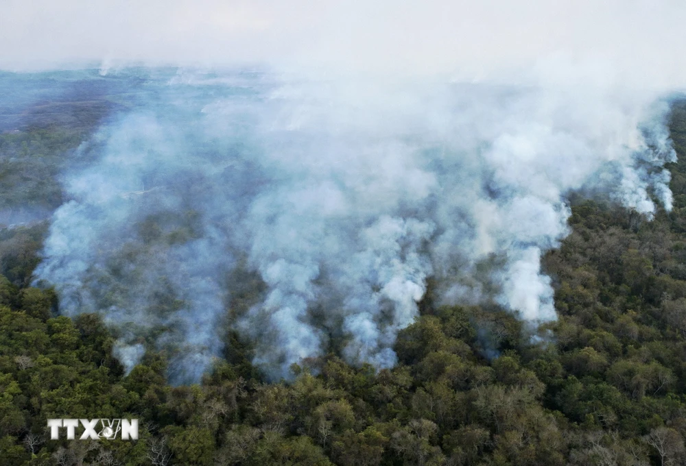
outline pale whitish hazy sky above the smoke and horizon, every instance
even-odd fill
[[[0,69],[267,62],[460,79],[537,69],[664,88],[686,82],[685,25],[683,0],[3,0]]]

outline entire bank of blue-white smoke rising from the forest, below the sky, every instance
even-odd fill
[[[675,154],[655,95],[422,81],[181,73],[105,125],[64,174],[38,280],[62,312],[104,313],[128,369],[169,349],[198,380],[222,328],[272,378],[344,339],[392,367],[426,280],[447,303],[555,319],[541,255],[592,187],[650,218]],[[239,260],[240,258],[240,260]],[[238,265],[239,262],[244,265]],[[490,267],[480,265],[490,263]],[[235,267],[265,292],[229,312]],[[160,330],[161,329],[161,330]]]

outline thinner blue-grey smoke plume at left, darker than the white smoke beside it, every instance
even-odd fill
[[[213,140],[202,95],[148,79],[160,88],[80,148],[95,162],[64,174],[71,200],[54,214],[36,279],[56,284],[60,312],[102,312],[127,371],[158,347],[171,380],[190,382],[222,348],[232,225],[252,188],[241,182],[245,141]],[[223,117],[237,114],[248,118],[239,106]]]

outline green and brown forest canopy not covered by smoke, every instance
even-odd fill
[[[60,164],[38,158],[73,150],[88,115],[0,136],[0,203],[58,206],[41,170]],[[671,131],[672,212],[571,199],[572,232],[544,260],[558,320],[539,337],[497,308],[437,306],[429,288],[399,365],[378,373],[329,354],[268,383],[229,332],[202,384],[167,384],[163,352],[125,376],[98,315],[60,316],[55,293],[30,286],[45,219],[3,228],[0,464],[686,464],[686,103]],[[61,417],[138,418],[140,439],[48,440]]]

